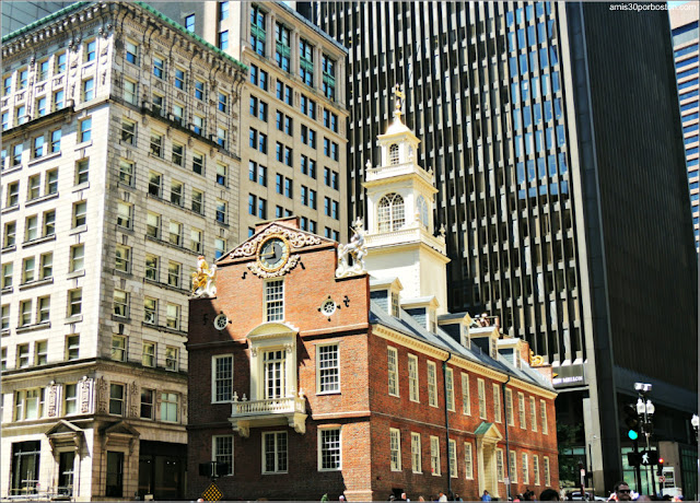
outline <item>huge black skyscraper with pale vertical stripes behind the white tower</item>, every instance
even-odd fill
[[[654,448],[690,448],[697,403],[697,258],[670,31],[652,7],[298,5],[349,50],[350,220],[400,84],[439,190],[447,308],[499,316],[553,365],[558,420],[583,423],[568,459],[598,493],[632,479],[634,382],[653,384]]]

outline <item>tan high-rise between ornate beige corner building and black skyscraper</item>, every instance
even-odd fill
[[[150,2],[249,68],[238,242],[261,220],[346,241],[347,49],[281,2]]]

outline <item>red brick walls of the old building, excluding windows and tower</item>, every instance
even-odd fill
[[[256,276],[248,266],[258,260],[258,247],[265,241],[259,236],[279,234],[280,231],[288,233],[288,236],[311,236],[295,226],[293,220],[259,225],[248,243],[218,262],[217,297],[190,301],[187,344],[190,362],[189,498],[197,498],[210,484],[209,477],[199,476],[199,465],[214,459],[215,441],[212,437],[217,435],[233,435],[233,475],[217,480],[228,500],[318,500],[324,493],[331,500],[341,493],[350,501],[386,500],[393,491],[406,491],[409,498],[418,500],[421,494],[429,499],[439,491],[447,492],[450,470],[442,365],[448,358],[446,369],[451,369],[454,375],[455,410],[447,414],[450,440],[456,442],[457,468],[456,477],[451,478],[452,491],[465,500],[478,499],[486,483],[480,467],[485,455],[482,451],[487,452],[487,456],[488,453],[494,455],[495,452],[489,447],[494,445],[505,452],[505,403],[501,394],[501,419],[494,418],[493,384],[499,385],[500,389],[501,383],[509,377],[506,386],[513,394],[515,421],[515,425],[509,426],[509,446],[516,454],[518,470],[512,493],[523,492],[526,487],[536,493],[545,489],[545,457],[549,459],[550,471],[547,486],[558,487],[555,394],[551,387],[538,385],[536,379],[528,377],[534,373],[532,370],[504,372],[502,365],[469,360],[465,356],[468,351],[465,348],[462,350],[465,353],[450,351],[447,346],[410,337],[377,323],[372,315],[376,306],[370,303],[369,274],[336,279],[336,244],[319,237],[315,244],[292,246],[291,256],[298,255],[299,262],[277,278],[284,280],[283,324],[291,327],[295,339],[293,354],[288,353],[285,361],[295,365],[293,372],[296,373],[298,383],[296,389],[287,389],[282,395],[296,396],[299,390],[303,391],[307,414],[304,420],[305,432],[298,433],[284,422],[269,424],[275,416],[269,411],[252,420],[248,432],[238,429],[238,433],[235,433],[232,426],[235,426],[236,418],[232,419],[232,416],[235,416],[236,403],[212,403],[212,359],[222,354],[233,355],[232,393],[235,391],[240,400],[237,403],[242,403],[244,394],[246,399],[254,396],[258,381],[255,374],[260,373],[261,369],[253,363],[254,354],[259,360],[262,352],[254,347],[257,334],[266,325],[264,290],[267,279]],[[273,227],[277,233],[271,232]],[[246,246],[247,255],[241,252],[246,250]],[[328,297],[339,305],[330,316],[319,311]],[[230,323],[219,331],[212,321],[221,313],[226,315]],[[318,393],[317,388],[317,347],[327,343],[338,344],[339,393]],[[396,349],[398,396],[388,394],[388,347]],[[409,398],[409,354],[418,359],[418,401]],[[436,407],[429,405],[428,362],[435,364]],[[470,414],[466,414],[463,407],[463,373],[469,376]],[[479,418],[480,378],[486,389],[486,420]],[[518,393],[524,394],[526,429],[520,426]],[[536,398],[536,432],[532,428],[530,396]],[[540,400],[546,407],[547,434],[542,434]],[[264,400],[252,400],[253,403],[264,403]],[[493,425],[489,430],[490,423]],[[322,470],[320,431],[335,428],[340,429],[340,468]],[[392,429],[399,431],[399,470],[392,470]],[[264,472],[266,458],[262,435],[269,432],[287,433],[288,465],[284,472]],[[417,470],[412,467],[411,433],[420,434],[420,469]],[[433,475],[431,470],[431,436],[438,437],[441,475]],[[465,443],[471,445],[471,479],[466,478]],[[527,482],[523,481],[523,454],[527,454],[528,460]],[[535,481],[534,456],[538,457],[539,483]],[[489,465],[488,471],[495,477],[494,461]],[[503,482],[489,483],[486,487],[492,494],[505,496]]]

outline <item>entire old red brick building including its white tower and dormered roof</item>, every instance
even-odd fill
[[[404,157],[417,143],[401,126],[380,138],[393,169],[368,174],[366,236],[355,225],[370,273],[280,220],[219,259],[215,297],[190,301],[190,498],[212,460],[226,465],[226,500],[505,499],[509,472],[513,494],[558,488],[549,369],[441,305],[444,239],[419,202],[432,201],[432,175]]]

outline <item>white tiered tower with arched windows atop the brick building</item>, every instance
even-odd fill
[[[368,161],[366,270],[376,278],[398,278],[401,304],[429,304],[447,313],[444,230],[435,236],[433,204],[438,189],[432,172],[416,162],[420,140],[401,121],[396,93],[394,121],[377,137],[378,166]],[[435,303],[436,301],[436,303]]]

